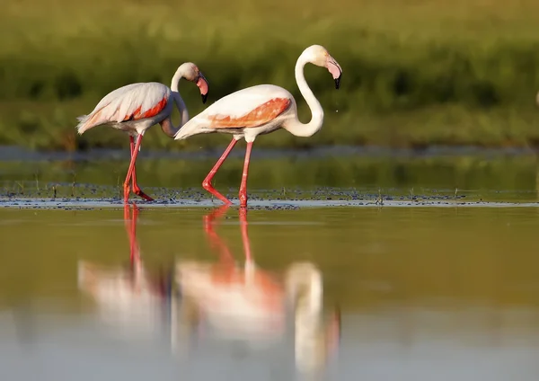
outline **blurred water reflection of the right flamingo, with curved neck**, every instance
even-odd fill
[[[340,314],[323,319],[323,279],[311,262],[290,265],[284,277],[256,267],[248,235],[247,210],[239,219],[245,261],[235,263],[228,246],[216,234],[216,221],[228,206],[205,217],[209,243],[218,252],[216,263],[182,261],[176,266],[176,282],[184,303],[191,305],[191,324],[207,323],[220,338],[270,344],[286,336],[287,305],[294,306],[296,367],[301,372],[320,371],[339,341]],[[200,330],[188,330],[199,332]]]

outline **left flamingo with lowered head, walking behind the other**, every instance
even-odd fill
[[[206,103],[208,81],[198,66],[186,62],[178,67],[172,76],[170,88],[156,82],[128,84],[105,95],[89,115],[77,118],[79,124],[76,128],[80,135],[90,128],[101,125],[110,125],[112,128],[126,131],[129,134],[131,162],[124,182],[124,203],[126,204],[129,199],[129,180],[131,180],[133,193],[147,201],[154,200],[138,186],[135,167],[146,129],[159,123],[163,132],[169,137],[173,137],[181,126],[189,120],[189,113],[178,92],[178,83],[181,78],[197,84],[202,95],[202,102]],[[173,126],[171,120],[172,102],[169,102],[171,95],[181,113],[181,123],[178,127]]]

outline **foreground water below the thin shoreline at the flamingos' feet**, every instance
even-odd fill
[[[254,209],[245,219],[228,208],[211,219],[216,210],[0,210],[0,375],[33,379],[22,362],[46,361],[46,379],[92,379],[81,370],[92,368],[120,379],[144,379],[150,369],[160,379],[537,377],[536,208]],[[228,274],[230,254],[246,279],[246,248],[252,273],[274,279],[267,297],[289,297],[287,274],[299,263],[322,279],[317,317],[293,317],[306,286],[291,298],[292,328],[262,348],[260,332],[230,325],[229,315],[239,315],[246,330],[257,315],[236,309],[226,281],[193,298],[195,278],[176,267]],[[150,283],[137,282],[129,263]],[[157,291],[169,287],[165,297]],[[211,304],[229,316],[212,321],[225,338],[208,328],[211,311],[200,312]],[[163,316],[147,321],[148,312]],[[305,364],[314,370],[300,371]]]

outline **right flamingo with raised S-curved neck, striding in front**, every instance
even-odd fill
[[[232,202],[215,190],[211,181],[239,139],[244,138],[247,142],[239,193],[240,205],[246,207],[247,174],[255,138],[278,128],[285,128],[296,137],[311,137],[322,128],[323,108],[305,81],[304,66],[307,63],[326,67],[335,80],[336,89],[340,87],[342,69],[328,50],[320,45],[308,47],[297,58],[296,83],[312,113],[308,123],[298,120],[296,100],[286,89],[273,84],[259,84],[221,98],[188,121],[174,136],[175,140],[179,140],[213,132],[232,134],[232,141],[202,182],[205,190],[225,204],[231,205]]]

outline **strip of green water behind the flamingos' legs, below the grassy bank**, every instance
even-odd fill
[[[213,159],[145,158],[137,164],[137,180],[155,199],[210,199],[200,183],[213,164]],[[48,198],[54,189],[58,198],[119,197],[127,167],[127,161],[117,160],[0,162],[0,198]],[[228,159],[216,173],[216,189],[236,199],[242,168],[242,157]],[[539,160],[535,155],[253,157],[249,175],[249,194],[264,199],[376,199],[379,192],[395,199],[535,202]]]

